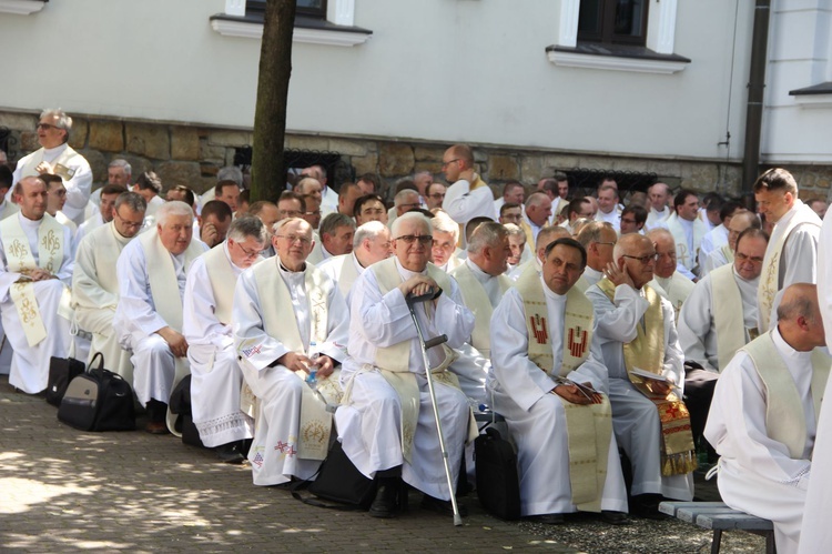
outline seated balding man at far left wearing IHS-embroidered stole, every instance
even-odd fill
[[[35,394],[47,387],[49,359],[69,354],[72,238],[47,213],[40,178],[23,178],[13,197],[20,211],[0,222],[0,313],[14,351],[9,384]]]

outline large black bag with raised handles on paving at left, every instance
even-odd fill
[[[81,431],[133,431],[133,390],[121,375],[104,369],[104,356],[98,353],[87,372],[70,382],[58,420]]]

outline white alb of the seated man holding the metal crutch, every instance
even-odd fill
[[[395,263],[403,281],[416,275],[404,269],[398,260]],[[459,349],[474,329],[474,314],[465,308],[453,279],[450,290],[443,291],[437,301],[434,318],[428,321],[424,310],[416,310],[416,316],[426,339],[446,334],[447,345],[451,349]],[[410,462],[405,461],[402,451],[400,399],[378,370],[363,372],[353,380],[351,403],[335,413],[338,437],[349,460],[367,477],[374,477],[378,471],[403,466],[402,477],[405,482],[430,496],[449,500],[450,491],[427,391],[425,363],[405,296],[398,289],[382,295],[375,273],[365,271],[353,288],[351,357],[344,363],[341,374],[344,386],[363,365],[374,366],[378,347],[405,341],[410,345],[408,367],[416,374],[420,391]],[[432,367],[438,366],[443,360],[442,349],[428,350]],[[451,481],[456,484],[470,411],[460,390],[438,380],[434,381],[434,385]]]

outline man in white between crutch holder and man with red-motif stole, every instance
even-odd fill
[[[485,383],[491,359],[491,313],[511,286],[511,280],[503,274],[511,253],[508,231],[499,223],[481,223],[471,234],[467,250],[468,256],[450,276],[456,279],[463,302],[474,314],[474,331],[458,350],[459,357],[450,370],[465,395],[479,406],[490,404]]]

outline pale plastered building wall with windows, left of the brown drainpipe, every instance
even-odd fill
[[[547,61],[560,1],[356,0],[368,42],[295,43],[288,128],[724,159],[717,143],[728,125],[735,160],[753,8],[740,1],[731,81],[737,1],[679,2],[674,51],[692,63],[664,75]],[[0,72],[13,75],[0,108],[251,127],[260,41],[213,31],[209,17],[223,9],[223,0],[72,0],[0,14]]]

